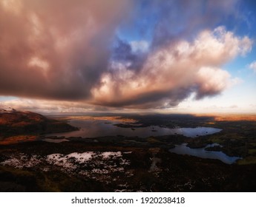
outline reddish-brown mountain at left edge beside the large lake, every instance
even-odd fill
[[[46,118],[34,112],[15,109],[0,111],[0,140],[14,135],[42,135],[77,130],[63,121]]]

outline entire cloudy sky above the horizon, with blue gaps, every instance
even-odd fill
[[[0,0],[0,109],[256,113],[256,1]]]

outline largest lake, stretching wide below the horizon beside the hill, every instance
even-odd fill
[[[116,123],[123,123],[123,121],[109,121],[109,120],[82,120],[71,119],[68,121],[70,125],[79,127],[79,131],[63,132],[50,134],[50,136],[64,136],[64,137],[82,137],[82,138],[97,138],[103,136],[122,135],[126,137],[140,137],[147,138],[150,136],[162,135],[184,135],[189,138],[197,136],[211,135],[220,132],[222,129],[212,127],[196,127],[196,128],[175,128],[169,129],[160,126],[147,126],[123,128],[115,126]]]

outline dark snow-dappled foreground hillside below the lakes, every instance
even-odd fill
[[[255,191],[255,165],[108,141],[0,146],[0,191]]]

